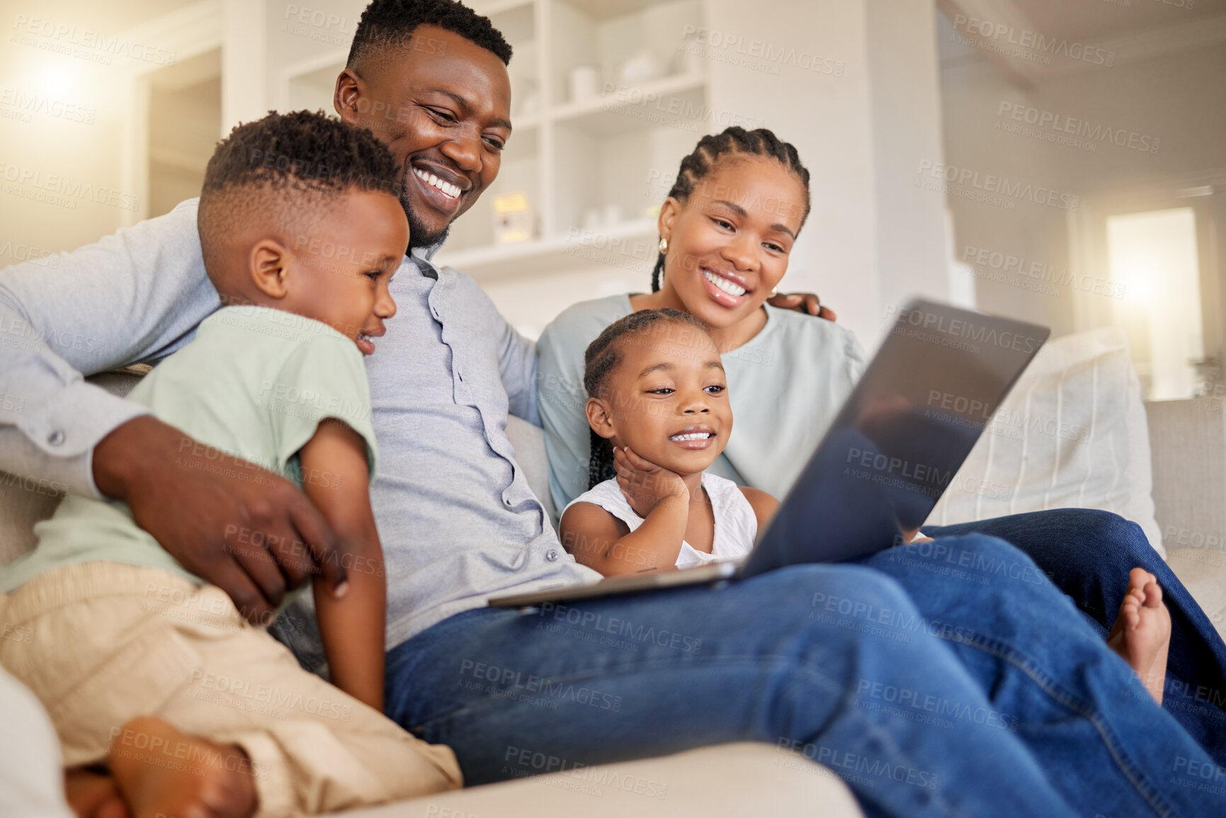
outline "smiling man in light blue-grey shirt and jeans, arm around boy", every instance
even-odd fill
[[[450,744],[470,784],[517,776],[525,755],[574,769],[753,740],[847,770],[873,814],[1209,814],[1210,796],[1181,787],[1170,766],[1213,762],[1133,695],[1132,671],[1049,584],[911,571],[922,581],[905,592],[905,571],[884,560],[531,614],[485,607],[500,592],[598,579],[558,542],[505,434],[508,413],[537,421],[532,342],[472,278],[430,260],[498,174],[509,59],[489,21],[457,2],[375,0],[336,86],[337,113],[402,163],[412,228],[390,285],[398,312],[368,368],[384,464],[371,505],[387,573],[389,715]],[[0,468],[125,500],[185,568],[261,618],[313,570],[343,579],[319,513],[291,483],[250,465],[217,468],[181,433],[81,379],[156,363],[217,310],[196,208],[183,202],[56,267],[0,271],[0,325],[32,330],[23,346],[0,346],[0,389],[27,407],[0,416]],[[58,343],[74,334],[96,342]],[[313,559],[298,558],[303,542]],[[943,546],[972,562],[1026,560],[977,535]],[[951,646],[899,622],[977,640]],[[283,636],[318,665],[316,639]],[[948,730],[896,705],[900,692],[969,715]]]

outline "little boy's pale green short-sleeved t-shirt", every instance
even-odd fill
[[[192,438],[184,440],[183,454],[204,454],[206,468],[267,480],[240,462],[248,461],[299,487],[337,480],[329,472],[304,475],[298,465],[298,451],[320,421],[337,418],[367,441],[374,478],[375,435],[362,353],[321,321],[267,307],[223,308],[128,397]],[[34,533],[38,547],[0,568],[0,592],[53,568],[96,559],[159,568],[204,584],[136,525],[124,503],[69,494]],[[244,540],[244,532],[237,536]],[[260,545],[257,532],[245,538]]]

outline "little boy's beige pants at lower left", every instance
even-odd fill
[[[427,744],[304,671],[221,589],[161,570],[77,563],[0,595],[0,663],[34,692],[67,766],[102,760],[115,737],[175,769],[185,747],[124,733],[158,716],[240,746],[260,816],[331,812],[460,786],[449,747]]]

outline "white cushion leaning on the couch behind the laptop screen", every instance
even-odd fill
[[[1056,508],[1114,511],[1163,557],[1149,428],[1123,330],[1049,341],[933,509],[933,525]]]

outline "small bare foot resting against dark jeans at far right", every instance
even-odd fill
[[[1128,662],[1159,704],[1166,683],[1166,652],[1171,645],[1171,614],[1162,605],[1157,578],[1141,568],[1128,574],[1128,594],[1119,606],[1107,646]]]

